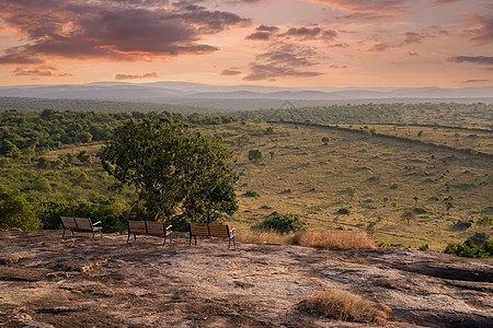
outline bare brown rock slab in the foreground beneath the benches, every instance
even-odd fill
[[[392,308],[387,327],[492,327],[493,260],[60,231],[0,232],[0,327],[372,327],[306,313],[341,288]],[[381,325],[379,325],[381,327]]]

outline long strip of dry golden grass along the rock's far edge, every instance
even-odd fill
[[[368,249],[375,248],[374,243],[365,233],[308,231],[297,234],[295,243],[324,249]]]

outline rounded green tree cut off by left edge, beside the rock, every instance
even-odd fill
[[[0,229],[36,230],[37,218],[33,206],[19,190],[7,190],[0,185]]]

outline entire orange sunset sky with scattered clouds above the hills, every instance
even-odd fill
[[[0,0],[0,85],[493,85],[490,0]]]

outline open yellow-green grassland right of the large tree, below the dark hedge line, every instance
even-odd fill
[[[248,122],[208,133],[221,136],[238,156],[239,224],[253,224],[273,211],[293,212],[313,229],[369,232],[388,245],[429,244],[434,250],[491,231],[477,225],[493,213],[491,159],[322,127]],[[262,161],[249,161],[252,149],[262,151]],[[349,187],[356,190],[353,196]],[[249,190],[260,197],[245,196]],[[447,202],[454,206],[448,213]],[[340,214],[340,209],[349,213]],[[405,209],[417,209],[409,225],[401,218]],[[472,224],[465,229],[458,221]]]

